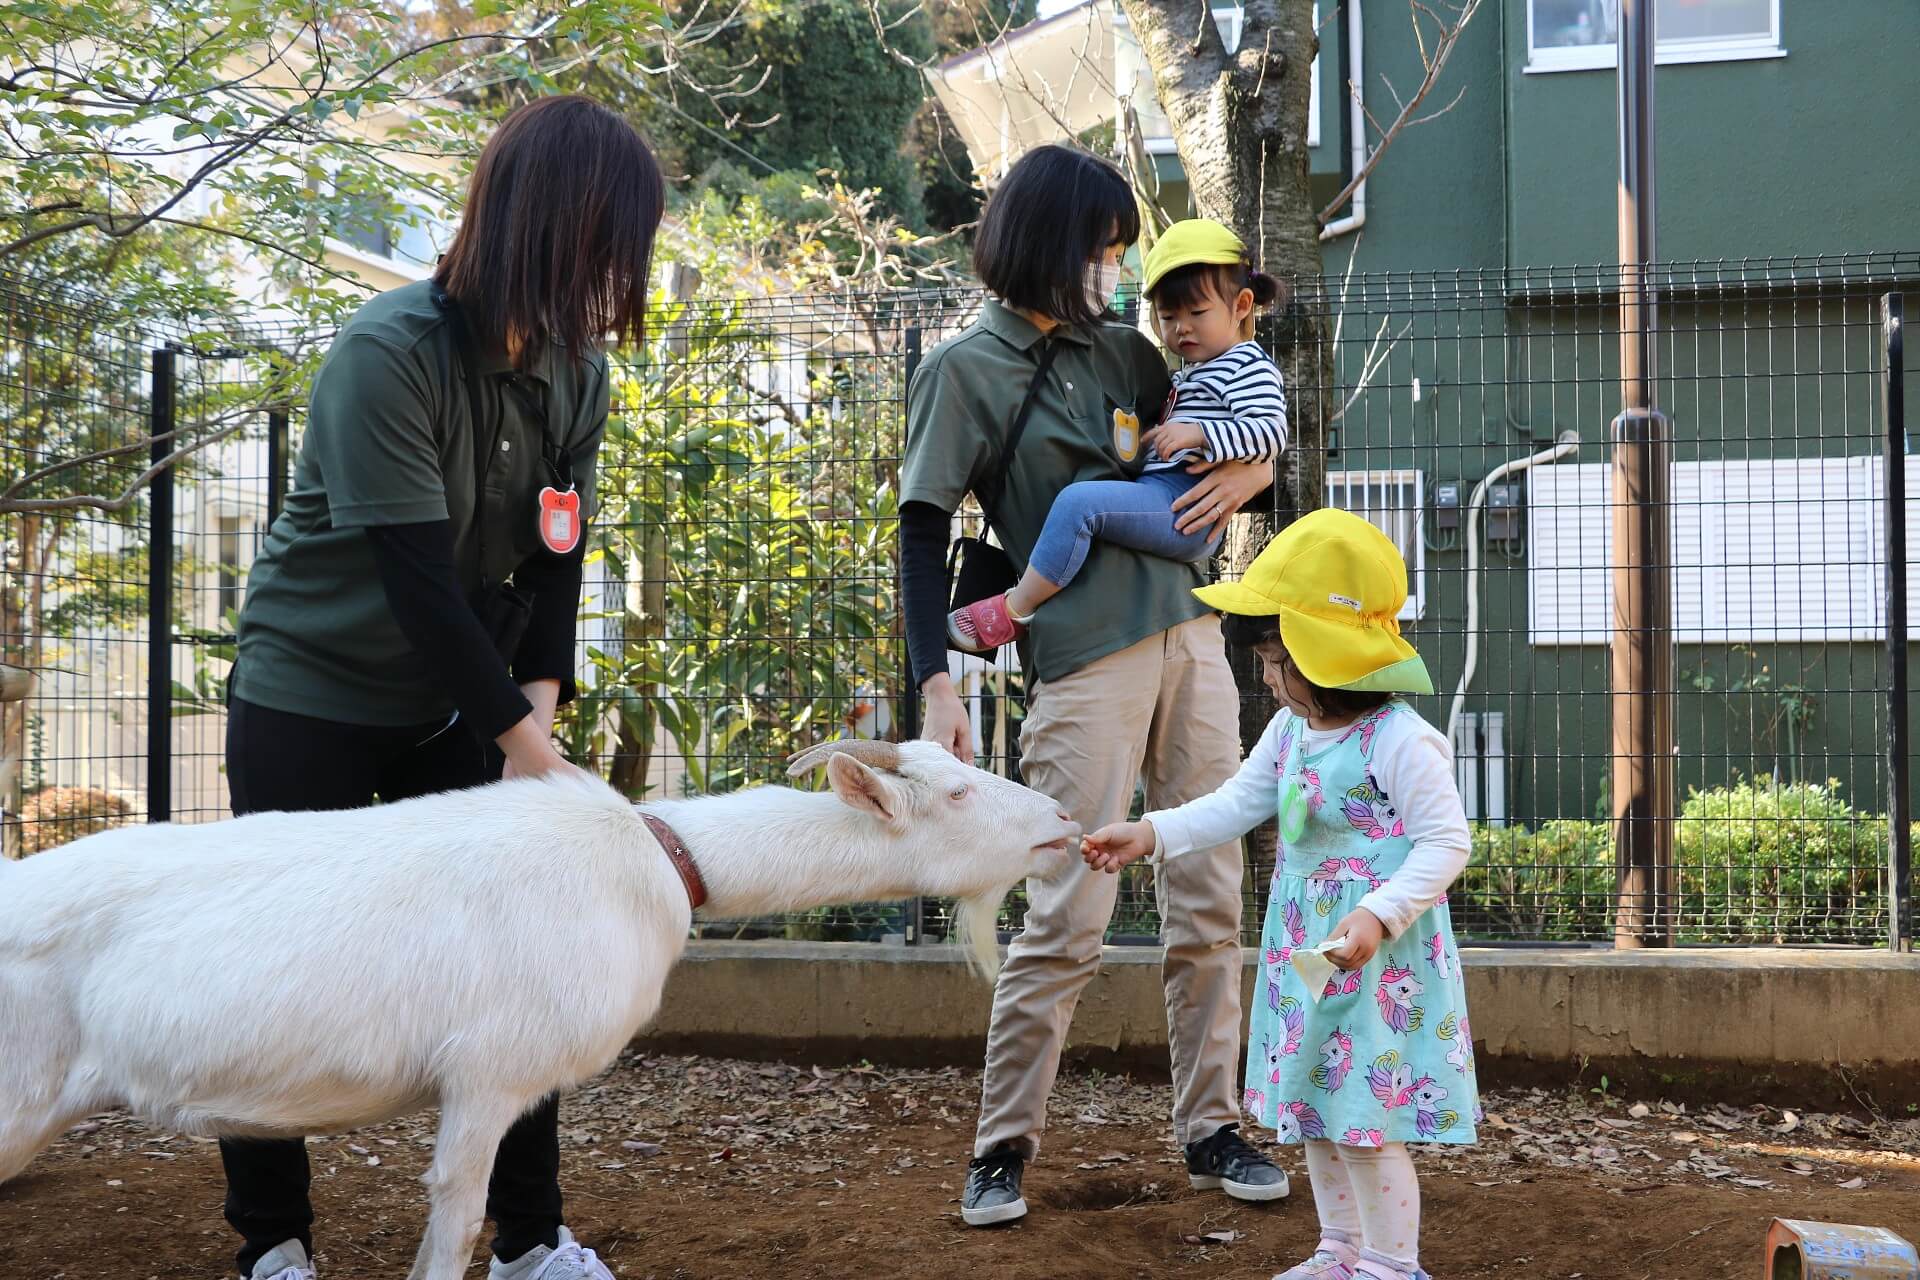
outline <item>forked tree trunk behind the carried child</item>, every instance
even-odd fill
[[[1292,290],[1261,324],[1286,380],[1290,443],[1283,484],[1261,510],[1235,518],[1221,572],[1238,578],[1273,533],[1321,505],[1332,384],[1319,217],[1308,186],[1311,67],[1319,52],[1311,0],[1248,0],[1240,48],[1221,42],[1206,0],[1121,0],[1154,71],[1160,104],[1192,186],[1194,207],[1233,226],[1256,265]],[[1273,714],[1252,652],[1229,649],[1240,687],[1240,747],[1252,750]],[[1273,829],[1248,837],[1254,885],[1273,869]]]

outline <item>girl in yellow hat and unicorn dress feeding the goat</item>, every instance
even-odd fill
[[[1231,783],[1102,827],[1083,854],[1106,871],[1179,858],[1279,808],[1246,1109],[1306,1146],[1321,1240],[1275,1280],[1428,1280],[1407,1144],[1475,1142],[1480,1103],[1446,906],[1467,816],[1446,739],[1396,697],[1432,693],[1396,622],[1405,562],[1365,520],[1317,510],[1196,595],[1231,614],[1283,710]],[[1338,938],[1308,990],[1292,954]]]

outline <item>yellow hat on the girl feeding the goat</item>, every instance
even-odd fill
[[[1421,654],[1400,637],[1407,562],[1352,512],[1329,507],[1294,520],[1240,581],[1194,595],[1225,614],[1279,614],[1286,654],[1323,689],[1434,691]]]

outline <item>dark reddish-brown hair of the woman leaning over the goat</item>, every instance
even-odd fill
[[[639,342],[666,184],[616,111],[563,94],[493,130],[434,280],[530,368],[551,342],[576,359]]]

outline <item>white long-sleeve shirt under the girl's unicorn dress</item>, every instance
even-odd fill
[[[1215,791],[1173,810],[1146,814],[1154,825],[1154,858],[1179,858],[1196,848],[1236,841],[1279,810],[1281,729],[1292,712],[1267,723],[1240,771]],[[1340,729],[1306,729],[1309,754],[1332,745]],[[1446,739],[1419,716],[1388,716],[1373,739],[1373,781],[1388,794],[1405,823],[1413,848],[1386,881],[1359,900],[1386,927],[1404,933],[1448,890],[1467,865],[1473,841],[1467,810],[1453,785],[1453,752]]]

